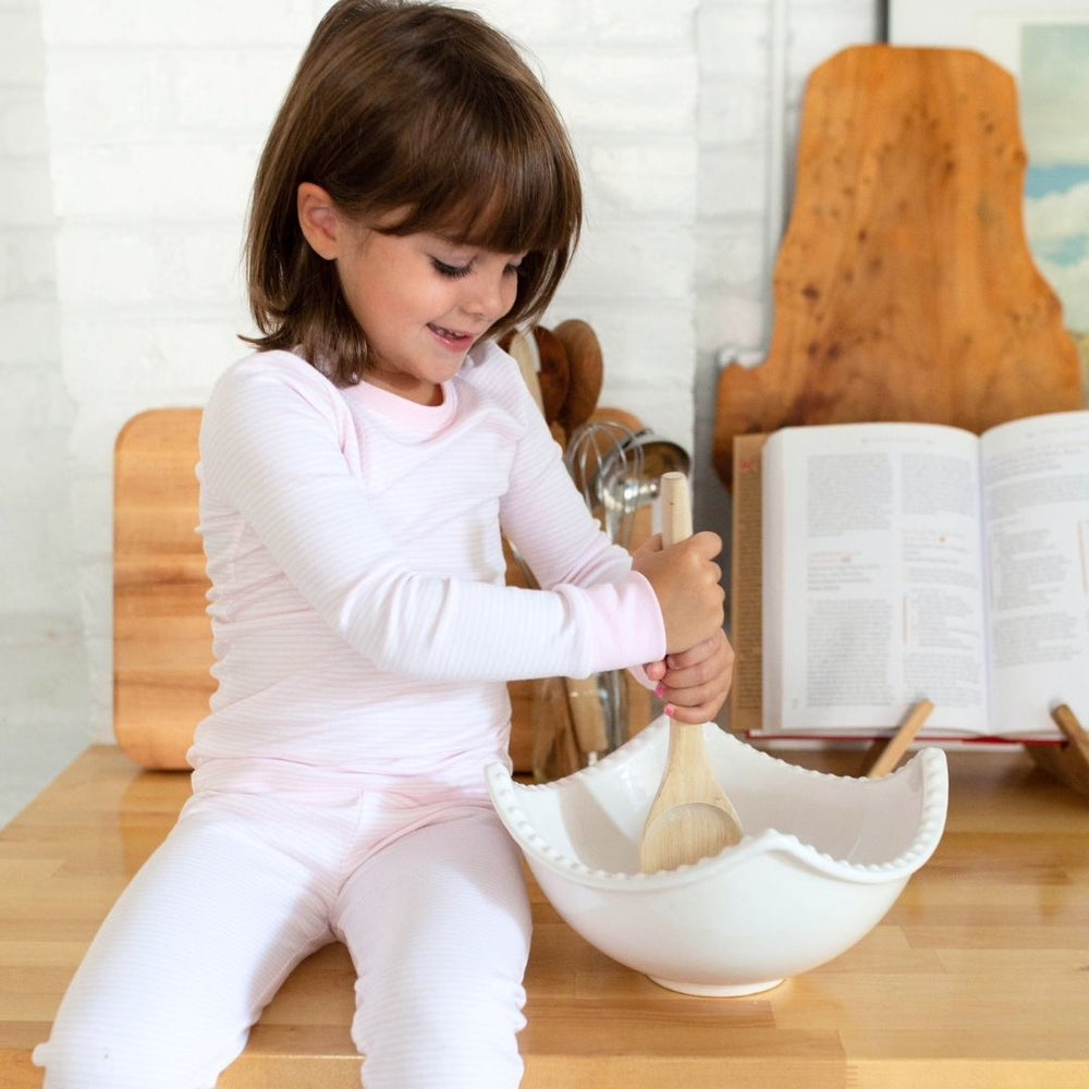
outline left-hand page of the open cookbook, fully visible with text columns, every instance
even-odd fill
[[[987,732],[978,440],[927,424],[764,446],[764,730]]]

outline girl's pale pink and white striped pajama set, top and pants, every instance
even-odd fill
[[[46,1089],[212,1089],[343,941],[367,1089],[510,1089],[529,909],[484,768],[505,682],[660,659],[661,612],[486,342],[423,406],[286,352],[205,411],[218,690],[193,796],[96,937]],[[543,591],[504,585],[501,528]]]

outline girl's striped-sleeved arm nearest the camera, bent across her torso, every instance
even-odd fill
[[[409,570],[345,462],[346,408],[325,379],[289,359],[266,356],[218,384],[201,429],[203,481],[360,654],[450,681],[580,676],[663,656],[649,584],[623,576],[623,555],[587,550],[583,530],[547,565],[560,582],[544,592]],[[554,467],[539,484],[547,511],[561,501]],[[568,481],[562,502],[572,501],[580,502]]]

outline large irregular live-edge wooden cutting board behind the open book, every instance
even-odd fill
[[[812,73],[767,359],[719,380],[735,435],[927,420],[979,432],[1081,404],[1077,350],[1029,254],[1013,77],[979,53],[858,46]]]

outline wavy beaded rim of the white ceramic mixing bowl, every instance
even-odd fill
[[[554,846],[546,842],[528,813],[519,805],[519,794],[566,791],[578,785],[587,776],[609,774],[610,771],[615,771],[629,761],[643,747],[653,744],[658,735],[668,726],[668,720],[658,719],[597,763],[550,783],[516,783],[503,763],[498,761],[490,763],[485,774],[492,805],[527,858],[587,888],[633,893],[677,889],[696,881],[705,881],[714,874],[724,873],[750,858],[775,852],[788,855],[810,869],[831,878],[856,884],[883,884],[903,880],[918,870],[934,853],[942,837],[949,804],[949,770],[945,752],[940,748],[932,746],[922,748],[892,774],[881,779],[862,780],[787,763],[719,730],[721,738],[715,744],[745,749],[746,759],[770,761],[776,766],[776,772],[782,775],[846,780],[853,783],[865,783],[868,784],[866,788],[880,791],[883,785],[888,785],[895,779],[911,774],[911,769],[918,766],[917,770],[921,770],[922,806],[915,836],[895,858],[881,862],[864,864],[852,862],[844,858],[833,858],[812,844],[806,843],[793,832],[781,832],[770,828],[756,835],[744,836],[739,843],[726,847],[710,858],[701,858],[698,862],[683,865],[674,870],[659,870],[657,873],[597,869],[556,851]]]

